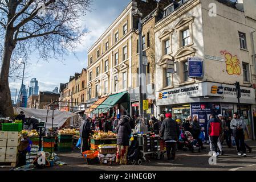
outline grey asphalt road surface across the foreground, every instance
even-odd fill
[[[87,165],[79,154],[78,150],[72,152],[56,152],[60,158],[60,161],[66,162],[67,165],[55,166],[50,168],[38,169],[43,171],[256,171],[256,141],[247,141],[249,146],[253,147],[253,152],[251,154],[247,153],[247,157],[237,156],[237,152],[234,148],[228,148],[224,146],[225,154],[217,158],[216,165],[210,165],[208,163],[209,156],[209,146],[206,150],[201,153],[192,153],[190,151],[178,151],[177,159],[170,163],[166,161],[166,157],[162,160],[152,159],[148,163],[143,163],[139,165],[112,165],[112,166],[101,166],[101,165]],[[0,168],[0,170],[9,170],[10,168]]]

